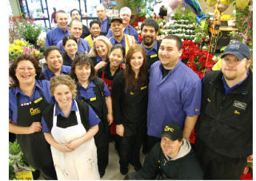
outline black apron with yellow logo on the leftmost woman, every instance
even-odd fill
[[[42,110],[49,106],[45,100],[42,90],[40,89],[40,97],[27,104],[20,104],[20,94],[17,96],[18,116],[17,125],[27,127],[33,122],[41,122]],[[18,144],[20,144],[26,161],[34,168],[40,169],[50,162],[53,162],[50,144],[41,132],[32,134],[17,134]]]

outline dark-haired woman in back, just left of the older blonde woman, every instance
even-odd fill
[[[62,54],[63,57],[63,65],[71,66],[74,57],[78,56],[78,41],[72,35],[66,35],[62,40],[63,49],[65,49],[65,53]]]

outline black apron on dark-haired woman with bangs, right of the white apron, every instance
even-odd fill
[[[101,120],[101,122],[98,124],[98,132],[94,136],[94,139],[97,148],[102,148],[109,144],[109,126],[106,120],[106,108],[104,108],[104,104],[106,103],[102,100],[104,97],[97,85],[94,88],[94,92],[96,94],[95,97],[86,99],[85,97],[81,96],[80,89],[78,89],[78,100],[85,101],[87,104],[90,104],[91,108],[94,109],[94,112]]]

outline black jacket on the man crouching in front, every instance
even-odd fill
[[[192,149],[182,158],[167,161],[158,142],[135,179],[203,179],[203,171]]]

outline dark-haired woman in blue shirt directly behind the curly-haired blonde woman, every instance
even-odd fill
[[[61,73],[70,75],[70,66],[63,65],[62,53],[57,46],[49,46],[43,52],[46,59],[47,68],[42,71],[46,80],[50,81],[51,77]]]

